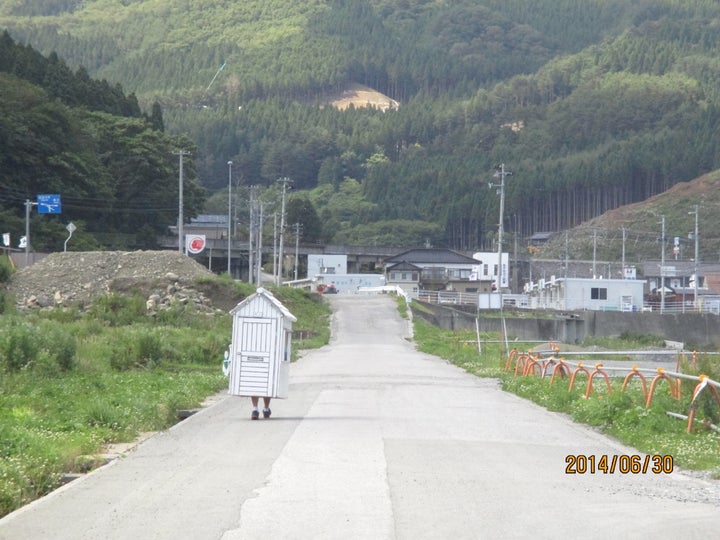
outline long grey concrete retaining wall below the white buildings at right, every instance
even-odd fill
[[[412,306],[412,304],[411,304]],[[414,309],[413,316],[422,317],[445,330],[475,329],[473,307],[438,306],[422,303],[425,312]],[[720,347],[720,317],[705,313],[643,313],[618,311],[553,312],[506,311],[505,325],[509,336],[527,340],[579,343],[587,336],[619,336],[624,332],[652,334],[671,341],[680,341],[686,348],[716,350]],[[522,317],[521,317],[522,315]],[[499,318],[480,317],[481,332],[500,332]]]

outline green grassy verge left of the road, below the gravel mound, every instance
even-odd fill
[[[254,287],[211,278],[203,287],[238,301]],[[329,307],[317,295],[272,290],[306,329],[295,349],[328,341]],[[141,296],[111,295],[92,308],[0,311],[0,517],[98,464],[110,443],[178,422],[227,386],[229,314],[178,306],[146,315]],[[296,351],[295,351],[296,352]]]

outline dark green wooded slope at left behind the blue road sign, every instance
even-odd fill
[[[141,113],[119,85],[73,72],[0,35],[0,227],[14,247],[25,233],[25,201],[60,194],[63,212],[31,215],[31,247],[59,251],[72,221],[72,249],[152,247],[177,220],[178,159],[193,149],[162,131],[159,109]],[[187,170],[185,201],[205,191]]]

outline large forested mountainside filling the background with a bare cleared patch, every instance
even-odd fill
[[[211,192],[232,160],[293,180],[307,240],[457,249],[492,245],[501,162],[524,236],[720,168],[719,21],[711,0],[0,0],[14,39],[160,104]],[[329,105],[354,83],[399,108]]]

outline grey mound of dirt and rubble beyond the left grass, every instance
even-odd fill
[[[97,296],[133,288],[175,294],[195,278],[210,275],[207,268],[174,251],[53,253],[15,273],[8,290],[19,307],[87,305]]]

